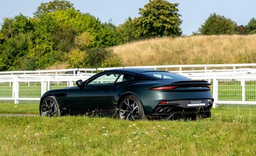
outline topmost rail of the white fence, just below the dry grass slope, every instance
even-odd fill
[[[256,69],[256,63],[239,64],[202,64],[202,65],[164,65],[164,66],[128,66],[118,68],[153,68],[170,72],[239,72]],[[8,71],[0,72],[2,75],[37,74],[37,75],[59,75],[59,74],[94,74],[96,72],[111,70],[113,68],[73,68],[65,70],[37,70],[37,71]]]

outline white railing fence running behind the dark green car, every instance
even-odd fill
[[[207,80],[212,84],[214,107],[216,104],[256,105],[256,63],[129,68],[155,68],[177,72],[194,80]],[[86,80],[98,71],[109,69],[0,72],[0,100],[14,103],[39,101],[47,90],[74,86],[76,80]]]

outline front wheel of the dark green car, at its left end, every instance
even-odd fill
[[[40,115],[47,117],[59,117],[60,108],[58,107],[58,102],[55,97],[49,96],[45,97],[39,105]]]

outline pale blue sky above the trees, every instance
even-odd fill
[[[197,32],[207,18],[216,13],[230,18],[240,25],[246,25],[256,18],[256,0],[168,0],[179,3],[181,14],[181,30],[184,35]],[[19,14],[33,17],[33,13],[41,3],[48,0],[0,0],[0,25],[3,18],[14,18]],[[70,0],[75,9],[89,13],[101,22],[110,22],[115,26],[123,24],[129,17],[139,17],[139,8],[143,8],[149,0]]]

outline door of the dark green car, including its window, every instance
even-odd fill
[[[119,77],[118,73],[105,73],[90,80],[83,88],[71,89],[66,103],[71,104],[69,105],[71,111],[78,112],[114,109],[111,89]]]

